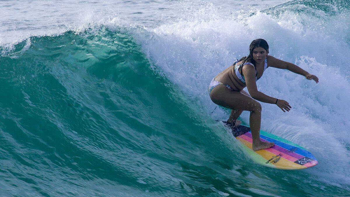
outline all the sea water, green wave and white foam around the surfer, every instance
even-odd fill
[[[349,196],[348,0],[1,0],[0,196]],[[261,129],[313,168],[255,164],[215,120],[211,79],[250,42]],[[246,89],[245,89],[246,90]],[[240,116],[249,124],[249,112]]]

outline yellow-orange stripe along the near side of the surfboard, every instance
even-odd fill
[[[246,147],[251,149],[252,148],[252,143],[240,138],[236,137],[237,140],[239,140],[242,144],[244,144]],[[266,161],[261,161],[260,163],[263,165],[268,165],[268,164],[273,164],[276,168],[278,169],[285,169],[285,170],[292,170],[292,169],[305,169],[306,167],[296,164],[294,162],[289,161],[288,159],[285,159],[281,156],[276,156],[275,154],[272,154],[271,152],[267,150],[258,150],[255,151],[257,155],[260,155],[262,158],[266,159]],[[281,152],[281,154],[283,154]],[[253,155],[252,155],[253,156]],[[269,161],[268,163],[266,163]]]

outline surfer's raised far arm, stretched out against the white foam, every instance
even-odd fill
[[[274,67],[274,68],[280,68],[280,69],[287,69],[292,71],[293,73],[299,74],[304,76],[308,80],[314,80],[316,83],[318,83],[318,78],[315,75],[311,75],[307,71],[303,70],[299,66],[296,66],[293,63],[286,62],[283,60],[279,60],[271,55],[269,55],[269,60],[268,60],[268,66],[269,67]]]

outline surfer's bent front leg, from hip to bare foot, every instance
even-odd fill
[[[250,111],[249,124],[252,131],[254,151],[274,145],[273,143],[260,141],[261,104],[259,102],[239,91],[231,91],[224,85],[215,87],[211,91],[210,99],[215,104],[232,110]]]

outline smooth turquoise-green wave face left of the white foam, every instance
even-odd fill
[[[252,163],[124,30],[31,37],[0,65],[3,194],[348,192]]]

